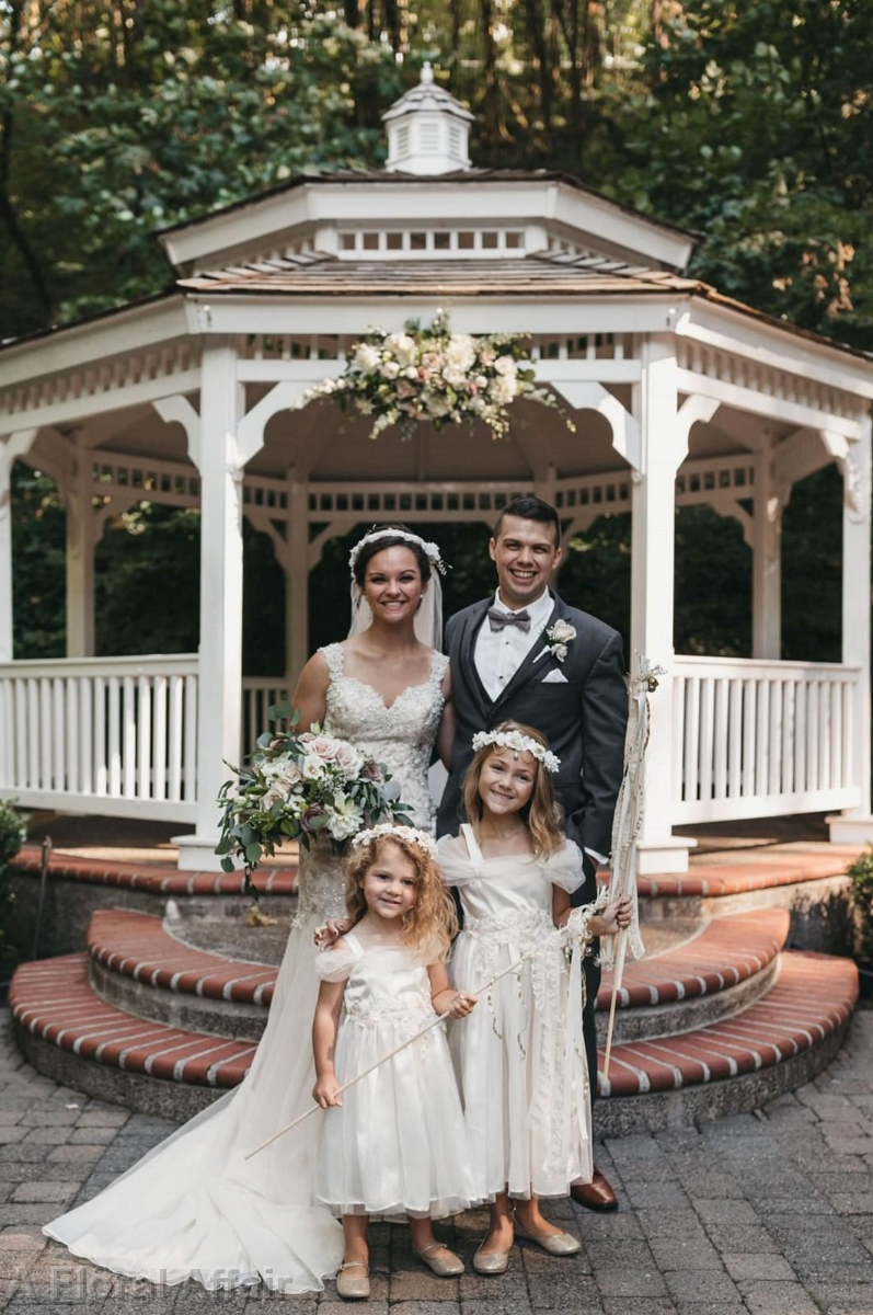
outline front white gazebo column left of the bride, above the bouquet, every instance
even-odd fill
[[[242,473],[238,442],[243,389],[227,339],[208,342],[200,406],[200,661],[196,831],[179,839],[179,867],[217,872],[216,798],[225,761],[239,756],[242,719]]]

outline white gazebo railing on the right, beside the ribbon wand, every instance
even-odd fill
[[[857,807],[861,672],[676,658],[674,825]]]

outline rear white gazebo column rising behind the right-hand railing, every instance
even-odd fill
[[[755,456],[752,522],[752,658],[782,656],[782,506],[768,443]]]

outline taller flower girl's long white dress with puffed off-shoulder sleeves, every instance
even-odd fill
[[[552,922],[552,888],[582,884],[581,853],[568,840],[548,859],[485,859],[465,825],[439,842],[439,864],[464,910],[450,965],[456,989],[480,994],[530,955],[451,1028],[476,1197],[564,1197],[593,1173],[581,973],[571,973]]]

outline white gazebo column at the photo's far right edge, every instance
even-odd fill
[[[843,661],[860,667],[852,739],[860,805],[828,818],[836,844],[873,843],[870,811],[870,417],[843,460]]]

